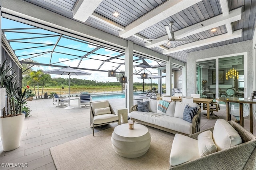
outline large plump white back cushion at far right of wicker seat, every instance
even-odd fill
[[[217,146],[217,151],[231,148],[242,143],[238,132],[224,119],[218,119],[214,125],[212,138]]]

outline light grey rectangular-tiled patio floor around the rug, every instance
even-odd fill
[[[109,100],[114,110],[124,108],[124,99]],[[137,103],[134,101],[134,103]],[[78,100],[71,100],[70,105],[75,109],[65,110],[52,105],[52,99],[29,101],[31,117],[25,118],[20,147],[4,152],[0,143],[0,169],[22,169],[2,167],[2,163],[27,163],[26,170],[54,170],[56,169],[49,148],[80,138],[92,135],[90,128],[89,109],[79,109]],[[204,114],[202,110],[202,115]],[[215,113],[221,119],[226,119],[226,107],[221,106]],[[234,119],[234,118],[232,118]],[[213,127],[216,119],[201,117],[201,130]],[[249,129],[249,121],[245,119],[245,128]],[[117,126],[117,123],[108,125]],[[95,131],[102,130],[96,128]],[[255,132],[254,132],[255,134]]]

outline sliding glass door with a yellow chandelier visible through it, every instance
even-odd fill
[[[244,97],[244,55],[196,61],[200,97]]]

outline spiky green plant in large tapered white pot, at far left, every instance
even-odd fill
[[[4,151],[10,151],[20,146],[20,137],[24,124],[25,114],[22,114],[22,107],[26,105],[25,89],[16,81],[16,73],[13,68],[6,64],[0,66],[0,87],[6,89],[6,106],[2,109],[0,117],[1,139]]]

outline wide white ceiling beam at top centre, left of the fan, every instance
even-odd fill
[[[201,0],[168,0],[126,26],[124,31],[119,32],[119,36],[128,38],[200,1]]]

